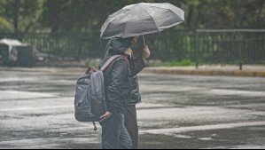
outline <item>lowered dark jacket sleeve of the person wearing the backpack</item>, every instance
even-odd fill
[[[111,82],[107,88],[107,99],[108,103],[108,111],[116,112],[119,108],[119,103],[122,98],[122,87],[127,82],[129,76],[129,62],[127,59],[117,59],[113,64],[113,71]]]

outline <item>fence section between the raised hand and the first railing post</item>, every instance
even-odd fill
[[[195,32],[169,30],[145,36],[145,41],[152,51],[151,59],[162,61],[196,59]]]

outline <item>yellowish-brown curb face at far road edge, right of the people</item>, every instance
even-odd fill
[[[145,73],[156,74],[173,74],[173,75],[219,75],[219,76],[252,76],[265,77],[265,71],[248,71],[248,70],[189,70],[176,68],[145,68]]]

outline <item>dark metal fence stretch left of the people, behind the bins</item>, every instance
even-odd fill
[[[22,43],[33,45],[39,52],[49,54],[50,58],[85,59],[103,56],[105,41],[93,34],[0,34],[0,38],[19,39]]]

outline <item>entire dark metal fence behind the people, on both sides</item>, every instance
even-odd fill
[[[152,56],[162,61],[190,59],[199,64],[265,64],[265,30],[196,30],[168,29],[144,36]],[[97,59],[105,53],[107,40],[99,33],[4,35],[30,43],[50,56],[74,59]],[[141,49],[142,40],[135,45]]]

